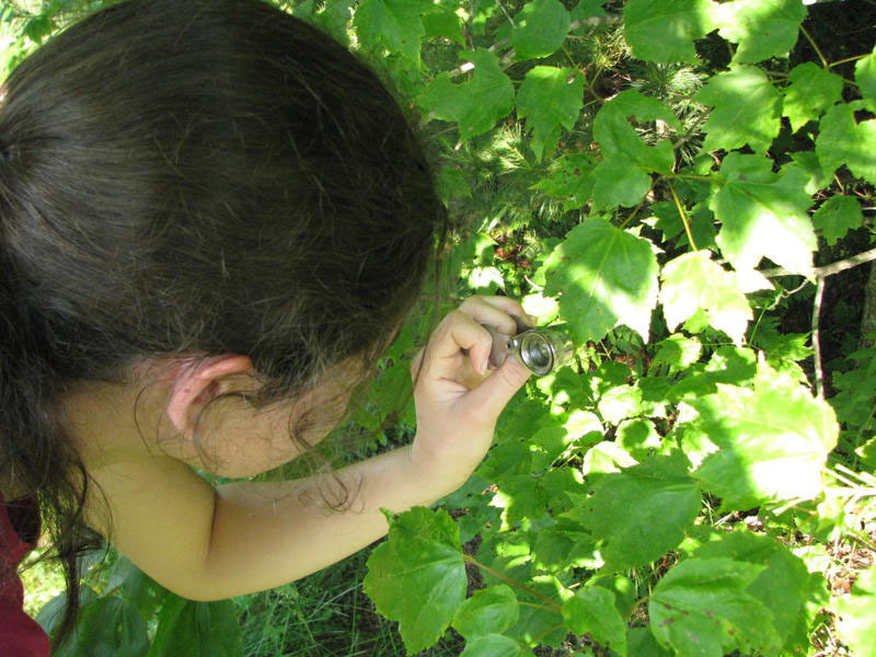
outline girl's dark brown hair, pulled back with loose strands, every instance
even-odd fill
[[[247,355],[255,407],[372,371],[449,227],[392,93],[262,0],[116,3],[0,93],[0,473],[39,502],[66,635],[95,537],[60,395],[174,356]]]

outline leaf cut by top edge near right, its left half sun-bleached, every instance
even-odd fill
[[[785,57],[799,36],[806,7],[799,0],[736,0],[716,8],[718,34],[739,44],[733,64]]]

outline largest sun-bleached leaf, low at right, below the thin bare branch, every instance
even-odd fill
[[[827,402],[800,385],[759,376],[753,390],[718,384],[717,394],[690,403],[700,413],[695,429],[721,448],[694,476],[723,498],[722,508],[821,492],[821,469],[839,434]]]

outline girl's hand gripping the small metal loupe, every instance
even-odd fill
[[[514,335],[511,314],[526,318],[508,297],[470,297],[450,312],[411,366],[417,434],[412,465],[440,495],[459,488],[486,456],[496,420],[531,372],[514,356],[487,370],[493,337],[481,324]]]

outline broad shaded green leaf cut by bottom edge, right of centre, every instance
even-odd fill
[[[772,612],[746,592],[762,569],[729,558],[682,561],[652,593],[652,632],[684,657],[723,657],[735,649],[777,654]]]

